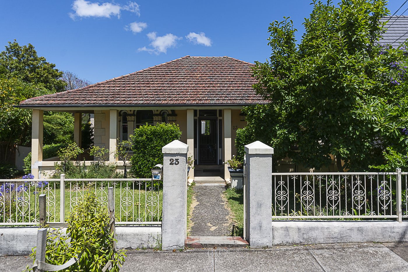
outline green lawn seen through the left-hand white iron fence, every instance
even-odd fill
[[[157,190],[150,190],[151,186],[145,186],[144,183],[136,184],[122,183],[122,187],[119,184],[114,186],[114,198],[115,198],[115,217],[117,221],[162,221],[162,200],[163,190],[160,188]],[[49,214],[49,222],[60,221],[60,188],[59,183],[54,184],[50,182],[47,187],[40,189],[35,186],[29,186],[27,192],[18,194],[17,202],[15,201],[15,195],[6,194],[6,198],[0,199],[0,207],[5,206],[6,218],[3,218],[3,214],[0,214],[0,222],[7,222],[9,214],[13,215],[12,221],[16,221],[16,207],[18,207],[18,222],[22,222],[23,218],[21,214],[24,214],[24,222],[32,222],[34,218],[38,219],[38,196],[40,194],[47,195],[47,213]],[[154,187],[154,186],[153,186]],[[67,220],[73,207],[82,200],[84,194],[89,190],[94,192],[98,201],[101,202],[102,207],[106,208],[108,203],[108,186],[98,183],[83,184],[78,183],[69,184],[66,183],[65,187],[65,219]],[[34,193],[35,192],[35,193]],[[11,199],[11,201],[10,201]],[[10,205],[11,203],[11,205]],[[23,209],[24,212],[21,211]],[[1,209],[0,209],[1,210]],[[28,217],[30,214],[30,217]]]

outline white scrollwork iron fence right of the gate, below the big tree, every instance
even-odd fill
[[[401,177],[405,178],[404,190]],[[401,221],[408,217],[406,185],[407,173],[399,169],[386,173],[273,173],[272,219]]]

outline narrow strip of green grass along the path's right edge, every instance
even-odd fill
[[[244,235],[244,190],[230,188],[225,190],[228,207],[231,209],[235,230],[233,236]]]

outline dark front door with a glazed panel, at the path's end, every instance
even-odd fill
[[[217,164],[218,130],[217,118],[198,119],[198,161],[200,164]]]

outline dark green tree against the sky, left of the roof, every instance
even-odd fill
[[[16,40],[9,42],[0,53],[0,76],[17,77],[27,83],[41,85],[50,92],[64,91],[67,85],[61,79],[62,71],[55,64],[38,56],[33,45],[19,45]]]

